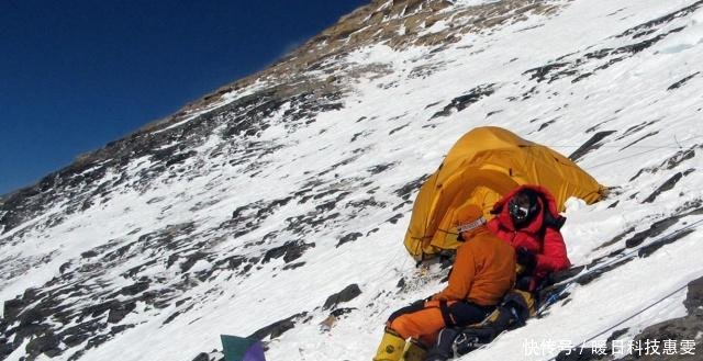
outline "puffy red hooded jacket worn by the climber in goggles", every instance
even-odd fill
[[[515,193],[523,189],[532,189],[540,195],[537,198],[540,211],[527,226],[515,229],[506,204]],[[547,206],[545,206],[545,202]],[[566,218],[559,215],[554,196],[545,188],[522,185],[498,201],[493,205],[491,213],[496,215],[489,221],[488,227],[494,235],[509,242],[515,249],[524,247],[535,253],[537,264],[534,275],[536,278],[542,279],[547,273],[566,270],[571,267],[571,262],[567,257],[567,246],[563,242],[561,233],[559,233],[559,228]]]

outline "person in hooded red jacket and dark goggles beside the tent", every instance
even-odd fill
[[[495,217],[488,228],[515,248],[518,280],[516,287],[535,291],[554,271],[571,267],[559,229],[566,218],[557,212],[549,191],[539,185],[521,185],[493,205]]]

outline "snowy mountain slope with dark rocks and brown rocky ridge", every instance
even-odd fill
[[[375,1],[5,195],[4,359],[210,360],[220,334],[256,334],[270,360],[368,360],[392,311],[443,286],[447,270],[420,274],[402,237],[422,180],[481,125],[611,187],[571,200],[563,233],[573,264],[623,262],[461,360],[547,360],[693,317],[703,1],[479,3]],[[700,346],[688,331],[668,337]]]

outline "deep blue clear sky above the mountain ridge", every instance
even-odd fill
[[[368,0],[0,0],[0,194],[265,68]]]

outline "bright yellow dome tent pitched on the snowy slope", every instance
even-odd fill
[[[604,188],[567,157],[494,126],[465,134],[420,189],[413,206],[405,248],[416,259],[456,249],[454,211],[467,203],[483,208],[514,188],[538,184],[548,189],[559,212],[570,196],[599,201]]]

